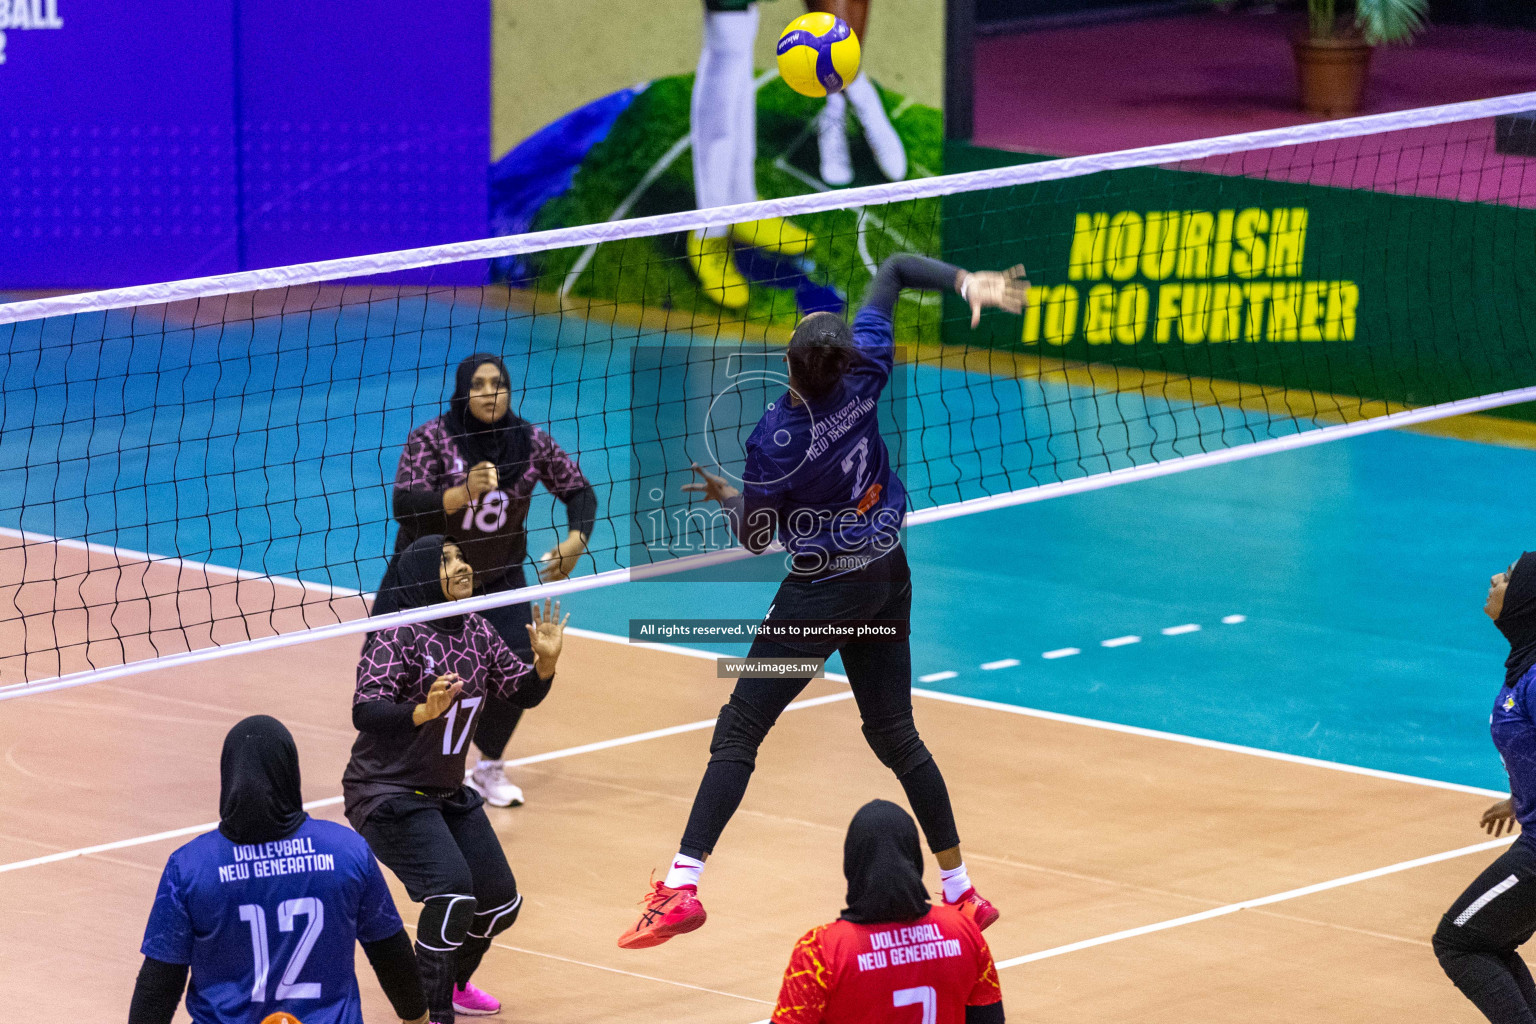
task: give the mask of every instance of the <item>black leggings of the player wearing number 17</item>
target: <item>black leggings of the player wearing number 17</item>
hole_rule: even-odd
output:
[[[468,788],[445,798],[404,794],[376,808],[361,832],[410,898],[425,904],[416,960],[432,1019],[452,1021],[453,986],[468,983],[492,940],[511,927],[522,906],[518,880],[485,817],[484,801]],[[429,917],[441,917],[441,901],[455,897],[459,900],[452,904],[452,926],[435,921],[429,929]],[[453,949],[424,946],[427,930],[447,936],[445,944]]]

